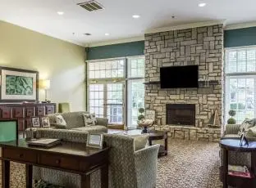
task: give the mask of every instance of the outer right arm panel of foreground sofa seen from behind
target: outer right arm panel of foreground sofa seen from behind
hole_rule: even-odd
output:
[[[159,147],[160,145],[152,145],[135,151],[137,187],[156,187]]]

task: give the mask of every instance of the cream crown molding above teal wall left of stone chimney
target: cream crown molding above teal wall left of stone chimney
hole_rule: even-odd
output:
[[[99,46],[106,46],[106,45],[117,44],[117,43],[130,43],[135,41],[144,41],[144,35],[135,37],[135,38],[123,38],[123,39],[103,41],[98,43],[88,43],[87,47],[99,47]]]

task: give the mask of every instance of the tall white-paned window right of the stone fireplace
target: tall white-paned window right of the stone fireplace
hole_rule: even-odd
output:
[[[225,122],[235,110],[236,123],[254,118],[256,111],[256,47],[226,50]]]

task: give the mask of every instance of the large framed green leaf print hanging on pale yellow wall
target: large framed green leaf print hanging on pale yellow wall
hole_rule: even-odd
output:
[[[38,101],[39,72],[0,67],[2,102]]]

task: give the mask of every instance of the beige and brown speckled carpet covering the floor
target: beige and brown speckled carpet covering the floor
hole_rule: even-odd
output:
[[[158,159],[157,188],[220,188],[217,143],[170,140],[168,155]],[[1,163],[0,163],[0,176]],[[0,187],[2,182],[0,180]],[[25,166],[11,163],[11,188],[25,187]]]

